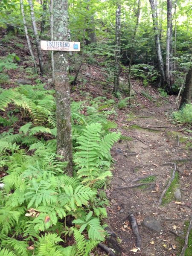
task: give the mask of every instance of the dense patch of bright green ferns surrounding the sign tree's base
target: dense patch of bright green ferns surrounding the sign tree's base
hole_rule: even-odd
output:
[[[20,118],[0,135],[0,256],[88,256],[105,240],[102,187],[120,134],[108,115],[72,102],[74,177],[57,160],[54,91],[43,86],[2,90],[0,109]],[[82,114],[82,109],[86,113]]]

